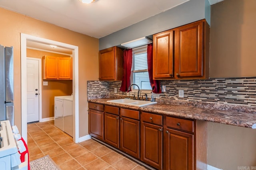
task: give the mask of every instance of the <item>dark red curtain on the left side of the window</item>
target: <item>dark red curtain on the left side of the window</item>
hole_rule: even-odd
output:
[[[122,92],[130,92],[128,89],[131,85],[130,76],[132,71],[132,49],[124,50],[124,75],[122,78],[122,85],[120,87],[120,91]]]

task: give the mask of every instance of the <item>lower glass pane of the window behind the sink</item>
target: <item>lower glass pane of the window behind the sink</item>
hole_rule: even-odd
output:
[[[140,89],[152,90],[149,82],[148,72],[134,72],[133,83],[137,84]],[[133,86],[134,89],[138,89],[137,86]]]

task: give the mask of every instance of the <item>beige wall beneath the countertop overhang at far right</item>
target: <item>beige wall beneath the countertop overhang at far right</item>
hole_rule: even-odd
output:
[[[208,164],[223,170],[256,167],[256,130],[208,123]]]

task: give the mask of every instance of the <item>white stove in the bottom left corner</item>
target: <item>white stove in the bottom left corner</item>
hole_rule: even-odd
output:
[[[16,131],[17,130],[18,129],[16,129]],[[24,151],[24,145],[22,145],[23,143],[20,143],[20,141],[16,141],[20,135],[16,134],[14,136],[10,121],[0,121],[0,134],[1,170],[27,170],[27,162],[21,162],[18,152],[18,149],[20,152]]]

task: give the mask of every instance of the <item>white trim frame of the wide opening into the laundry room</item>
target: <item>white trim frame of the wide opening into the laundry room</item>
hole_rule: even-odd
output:
[[[20,33],[20,52],[21,52],[21,133],[23,139],[27,142],[27,70],[26,70],[26,58],[27,58],[27,40],[36,41],[44,44],[56,45],[71,49],[73,51],[73,141],[79,142],[79,86],[78,86],[78,46],[70,45],[50,39],[36,37]]]

